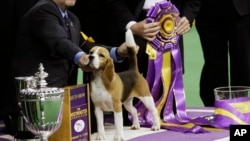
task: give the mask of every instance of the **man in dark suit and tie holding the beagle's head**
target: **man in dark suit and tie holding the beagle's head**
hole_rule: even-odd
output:
[[[42,63],[49,74],[46,78],[49,87],[76,84],[77,70],[84,65],[86,53],[101,44],[81,38],[80,22],[67,10],[75,1],[40,0],[22,17],[12,54],[13,81],[18,76],[33,76]],[[122,62],[121,57],[127,53],[124,43],[118,48],[101,46],[109,49],[117,62]]]

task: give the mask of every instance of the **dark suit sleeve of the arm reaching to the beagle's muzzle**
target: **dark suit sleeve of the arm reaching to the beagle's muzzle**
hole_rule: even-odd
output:
[[[30,21],[24,21],[23,28],[29,28],[29,32],[34,39],[42,40],[42,46],[50,53],[51,56],[63,56],[72,60],[74,55],[81,51],[79,48],[80,23],[72,17],[72,39],[68,39],[64,22],[58,8],[52,4],[44,4],[40,8],[33,8],[34,12],[26,15]]]

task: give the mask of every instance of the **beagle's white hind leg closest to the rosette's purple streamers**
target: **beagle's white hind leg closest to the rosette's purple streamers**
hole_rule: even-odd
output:
[[[152,130],[160,130],[160,117],[158,115],[157,108],[155,107],[154,99],[152,96],[139,97],[142,103],[146,106],[149,112],[153,116]]]

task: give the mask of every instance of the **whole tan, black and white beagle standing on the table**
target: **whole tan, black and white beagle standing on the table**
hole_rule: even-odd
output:
[[[131,33],[131,35],[128,36],[133,35]],[[133,38],[130,37],[130,39],[127,40],[133,40]],[[93,47],[89,53],[87,66],[92,72],[90,93],[91,100],[95,105],[95,116],[98,126],[96,140],[105,140],[104,111],[113,111],[114,113],[116,129],[114,140],[124,140],[122,104],[133,117],[131,129],[140,128],[137,109],[133,106],[134,97],[141,100],[153,115],[151,130],[160,129],[158,111],[155,107],[148,83],[138,71],[136,45],[133,44],[129,46],[129,42],[131,41],[127,40],[129,55],[129,70],[127,71],[116,73],[109,51],[103,47]]]

